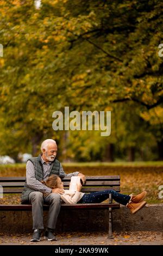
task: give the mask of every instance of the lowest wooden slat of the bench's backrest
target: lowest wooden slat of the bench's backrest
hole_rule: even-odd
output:
[[[64,189],[68,190],[68,187],[64,187]],[[120,187],[83,187],[82,188],[82,192],[95,192],[95,191],[102,191],[102,190],[115,190],[117,192],[120,192]],[[3,188],[3,193],[4,194],[18,194],[18,193],[22,193],[23,191],[23,187],[17,187],[17,188]]]

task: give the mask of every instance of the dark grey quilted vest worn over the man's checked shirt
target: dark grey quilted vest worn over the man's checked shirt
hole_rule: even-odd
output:
[[[41,162],[41,155],[39,155],[38,157],[32,157],[32,158],[28,159],[28,161],[31,161],[34,164],[36,179],[39,181],[43,180],[43,166],[42,166],[42,162]],[[52,174],[59,175],[59,169],[60,169],[60,162],[57,159],[55,159],[51,164],[51,172],[50,172],[49,176],[51,176]],[[36,190],[28,187],[27,180],[26,180],[25,184],[24,184],[22,196],[21,196],[22,204],[29,203],[29,194],[30,194],[30,192],[33,192],[33,191],[36,191]]]

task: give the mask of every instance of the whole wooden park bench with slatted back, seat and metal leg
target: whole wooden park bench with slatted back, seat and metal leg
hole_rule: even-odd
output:
[[[4,194],[21,194],[26,177],[0,177],[0,185],[3,187]],[[64,188],[68,189],[70,178],[62,179]],[[96,192],[106,189],[113,189],[120,192],[120,176],[87,176],[86,184],[82,188],[82,192]],[[113,203],[111,194],[109,194],[108,203],[92,203],[92,204],[62,204],[61,208],[64,209],[108,209],[109,218],[109,236],[112,238],[112,209],[119,209],[120,204]],[[43,205],[44,210],[48,210],[48,205]],[[30,204],[0,204],[1,211],[31,211],[32,205]]]

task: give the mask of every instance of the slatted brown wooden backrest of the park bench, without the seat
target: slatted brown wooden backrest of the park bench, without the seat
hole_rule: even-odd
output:
[[[21,193],[26,177],[0,177],[0,185],[3,193]],[[64,188],[68,189],[71,178],[64,178]],[[96,192],[106,189],[114,189],[120,192],[120,176],[86,176],[86,184],[82,187],[82,192]]]

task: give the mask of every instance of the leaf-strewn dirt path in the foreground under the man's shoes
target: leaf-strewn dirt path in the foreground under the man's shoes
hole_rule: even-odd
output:
[[[114,239],[109,240],[102,233],[64,233],[58,234],[58,241],[44,240],[30,242],[31,234],[0,234],[0,245],[163,245],[163,235],[156,231],[114,232]]]

